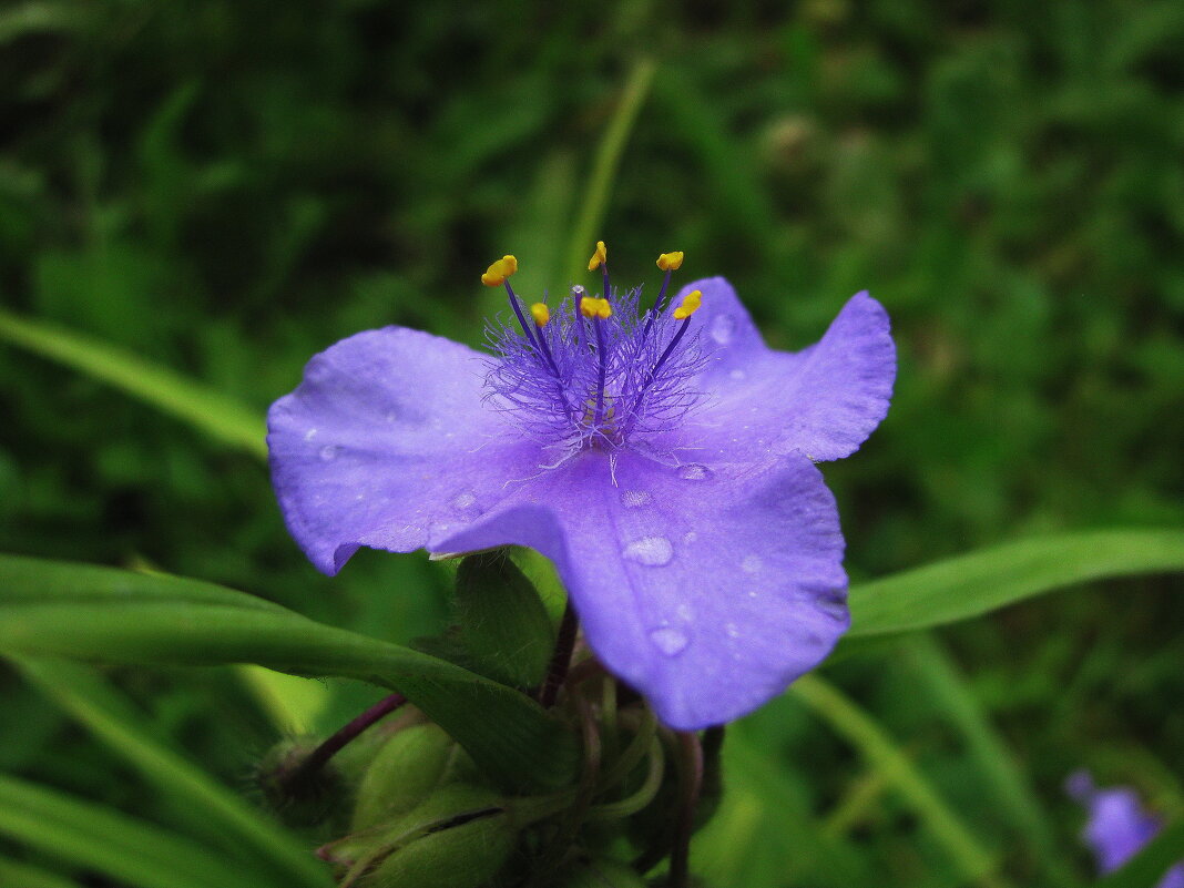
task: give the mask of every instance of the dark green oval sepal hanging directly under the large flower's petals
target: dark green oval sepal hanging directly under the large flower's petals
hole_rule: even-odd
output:
[[[461,561],[456,614],[475,671],[517,688],[542,683],[555,646],[554,628],[539,593],[506,553]]]

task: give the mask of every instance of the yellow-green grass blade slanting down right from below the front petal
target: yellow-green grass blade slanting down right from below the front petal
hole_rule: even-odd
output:
[[[993,855],[976,841],[970,829],[871,716],[816,675],[798,678],[790,687],[790,693],[813,709],[836,733],[858,749],[870,767],[884,776],[916,811],[967,880],[984,888],[1003,888],[1008,884],[996,873]]]

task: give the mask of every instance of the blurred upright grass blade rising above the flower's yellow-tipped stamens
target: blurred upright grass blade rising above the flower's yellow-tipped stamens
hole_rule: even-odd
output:
[[[596,160],[592,162],[592,176],[588,188],[580,204],[580,214],[572,229],[571,246],[567,250],[567,269],[573,279],[587,271],[587,257],[596,246],[596,236],[604,224],[604,214],[609,206],[609,195],[617,179],[617,167],[624,154],[629,134],[637,121],[645,97],[649,95],[657,65],[654,59],[639,59],[629,72],[625,88],[620,95],[617,110],[609,122],[609,128],[597,146]],[[607,295],[607,294],[605,294]]]

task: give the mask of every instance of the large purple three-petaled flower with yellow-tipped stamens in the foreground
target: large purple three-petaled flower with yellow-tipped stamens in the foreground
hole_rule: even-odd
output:
[[[588,645],[678,729],[755,709],[847,630],[835,500],[815,462],[855,451],[888,411],[888,316],[854,296],[815,346],[774,352],[723,278],[667,300],[574,287],[521,303],[494,356],[418,330],[360,333],[314,356],[272,405],[288,527],[334,574],[361,546],[529,546]],[[526,310],[523,310],[526,309]]]

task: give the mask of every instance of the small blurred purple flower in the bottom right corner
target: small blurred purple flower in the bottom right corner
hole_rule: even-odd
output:
[[[1086,771],[1077,771],[1066,781],[1066,789],[1088,812],[1081,837],[1094,852],[1102,875],[1131,860],[1163,828],[1128,786],[1100,790]],[[1158,888],[1184,888],[1184,863],[1169,870]]]

